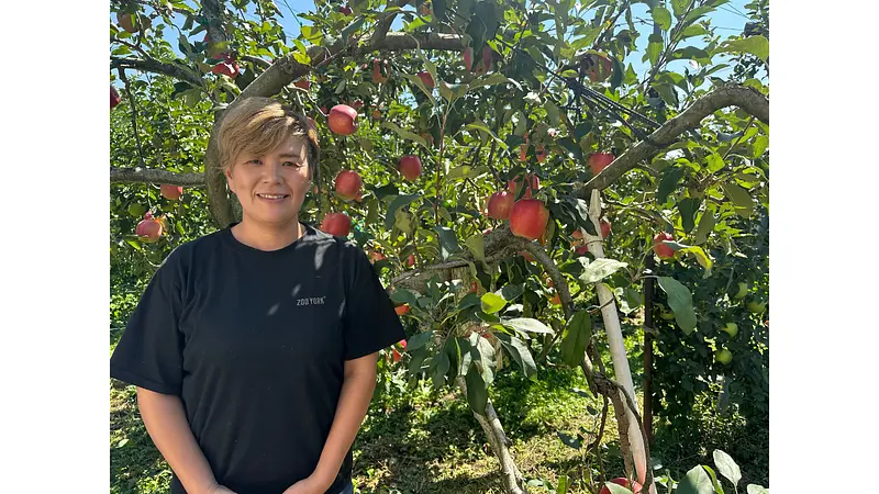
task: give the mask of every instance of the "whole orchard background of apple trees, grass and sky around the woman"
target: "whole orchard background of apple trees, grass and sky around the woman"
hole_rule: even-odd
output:
[[[297,10],[111,2],[111,352],[165,256],[240,216],[224,110],[276,97],[322,146],[302,220],[408,334],[359,492],[768,492],[768,2]],[[110,401],[111,492],[167,492]]]

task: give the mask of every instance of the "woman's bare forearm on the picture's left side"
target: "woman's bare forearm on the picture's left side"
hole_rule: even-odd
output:
[[[213,492],[216,479],[186,419],[179,396],[137,388],[146,431],[189,494]]]

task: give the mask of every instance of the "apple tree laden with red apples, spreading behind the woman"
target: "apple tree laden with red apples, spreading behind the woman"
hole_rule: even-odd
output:
[[[293,37],[271,1],[114,1],[114,266],[143,277],[240,217],[215,131],[247,97],[282,99],[322,146],[302,218],[370,254],[407,324],[380,379],[459,388],[520,493],[491,383],[580,368],[614,405],[627,476],[655,492],[620,318],[672,315],[645,324],[657,362],[713,338],[741,319],[710,301],[766,235],[768,41],[721,38],[708,16],[724,3],[319,1]],[[654,380],[679,372],[710,374]]]

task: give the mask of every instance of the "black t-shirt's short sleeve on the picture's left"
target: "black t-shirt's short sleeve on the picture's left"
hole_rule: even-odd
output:
[[[153,274],[110,358],[111,378],[163,394],[182,391],[182,304],[173,257]]]

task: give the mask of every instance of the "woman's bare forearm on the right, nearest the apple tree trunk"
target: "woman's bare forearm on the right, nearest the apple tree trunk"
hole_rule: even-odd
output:
[[[345,381],[342,384],[333,426],[330,428],[330,436],[326,438],[318,467],[311,475],[321,489],[326,490],[333,484],[369,411],[369,403],[376,389],[377,362],[378,352],[345,362]]]

